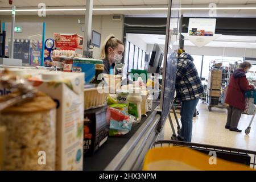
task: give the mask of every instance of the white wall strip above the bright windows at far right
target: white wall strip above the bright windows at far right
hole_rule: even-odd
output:
[[[226,56],[226,57],[256,57],[256,49],[247,48],[223,48],[184,46],[186,52],[191,55]]]

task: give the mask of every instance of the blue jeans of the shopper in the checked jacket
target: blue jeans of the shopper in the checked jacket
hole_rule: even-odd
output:
[[[180,137],[184,138],[184,142],[191,142],[192,129],[193,129],[193,114],[196,109],[196,105],[199,102],[199,98],[191,101],[182,101],[181,103],[181,133]]]

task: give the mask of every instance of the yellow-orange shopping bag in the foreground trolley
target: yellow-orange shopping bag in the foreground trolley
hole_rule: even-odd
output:
[[[144,171],[250,171],[249,166],[214,158],[187,147],[156,147],[148,151]]]

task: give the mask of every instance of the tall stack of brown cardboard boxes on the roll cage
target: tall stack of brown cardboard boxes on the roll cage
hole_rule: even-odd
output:
[[[218,101],[221,96],[221,69],[212,69],[209,73],[207,96],[210,101],[210,105],[218,105]]]

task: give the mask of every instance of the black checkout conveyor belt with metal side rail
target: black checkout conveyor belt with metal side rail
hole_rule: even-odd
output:
[[[109,137],[92,156],[84,158],[84,171],[138,170],[151,144],[159,137],[156,126],[160,115],[154,111],[159,102],[153,102],[151,112],[122,137]]]

